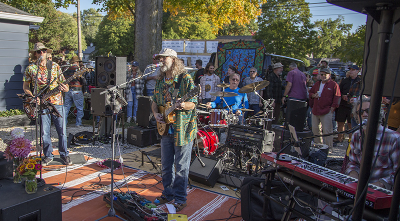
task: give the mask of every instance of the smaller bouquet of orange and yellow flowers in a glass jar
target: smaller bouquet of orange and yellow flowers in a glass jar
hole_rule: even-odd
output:
[[[26,177],[25,180],[25,191],[28,194],[34,194],[37,191],[37,180],[36,174],[37,171],[41,170],[40,158],[29,157],[28,159],[24,159],[18,167],[18,173],[23,177]]]

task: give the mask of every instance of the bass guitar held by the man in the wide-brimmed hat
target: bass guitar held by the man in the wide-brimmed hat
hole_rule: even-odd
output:
[[[87,68],[82,68],[79,69],[78,71],[76,71],[75,73],[73,73],[73,75],[71,77],[69,77],[68,79],[66,79],[64,82],[62,82],[62,84],[66,85],[67,83],[69,83],[71,80],[80,77],[83,75],[84,72],[88,71],[89,69]],[[42,100],[45,101],[47,100],[51,95],[58,93],[60,91],[59,89],[59,85],[55,88],[53,88],[52,90],[50,90],[49,92],[45,93],[42,95]],[[36,103],[32,102],[30,103],[30,101],[32,100],[33,97],[31,97],[30,95],[24,95],[21,97],[22,101],[23,101],[23,110],[25,111],[26,116],[28,116],[28,118],[30,120],[34,120],[36,119]]]

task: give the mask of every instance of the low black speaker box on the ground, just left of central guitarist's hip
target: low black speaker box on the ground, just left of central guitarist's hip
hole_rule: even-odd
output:
[[[147,147],[159,143],[161,136],[158,135],[157,128],[129,127],[126,141],[138,147]]]

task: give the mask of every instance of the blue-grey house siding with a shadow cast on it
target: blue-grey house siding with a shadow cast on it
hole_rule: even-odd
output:
[[[22,109],[23,72],[28,65],[29,22],[0,19],[0,111]]]

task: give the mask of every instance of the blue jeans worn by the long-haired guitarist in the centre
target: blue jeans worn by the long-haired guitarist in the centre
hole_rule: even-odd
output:
[[[173,134],[161,138],[162,194],[168,201],[186,203],[186,188],[189,176],[190,155],[193,141],[183,146],[175,146]],[[175,174],[176,167],[176,174]]]

